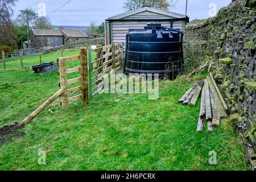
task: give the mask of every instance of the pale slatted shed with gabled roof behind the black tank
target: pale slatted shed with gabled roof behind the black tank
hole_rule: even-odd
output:
[[[164,27],[185,31],[187,22],[189,18],[186,15],[144,6],[106,19],[105,43],[125,43],[129,29],[144,29],[149,23],[161,23]]]

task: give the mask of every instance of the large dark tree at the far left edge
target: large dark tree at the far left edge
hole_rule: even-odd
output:
[[[0,0],[0,44],[16,47],[17,40],[11,20],[17,0]]]

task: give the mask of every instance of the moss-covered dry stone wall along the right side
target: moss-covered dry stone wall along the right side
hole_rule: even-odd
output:
[[[187,25],[187,41],[208,41],[212,72],[228,103],[232,122],[256,169],[256,1],[238,0],[216,16]]]

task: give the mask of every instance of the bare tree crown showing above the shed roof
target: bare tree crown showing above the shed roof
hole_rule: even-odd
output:
[[[174,7],[176,3],[177,0],[126,0],[123,8],[130,11],[143,6],[150,6],[158,9],[168,10],[169,7]]]

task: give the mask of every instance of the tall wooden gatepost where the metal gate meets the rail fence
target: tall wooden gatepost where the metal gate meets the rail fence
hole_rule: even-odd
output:
[[[88,68],[87,68],[87,48],[80,48],[80,73],[82,104],[88,104]]]

